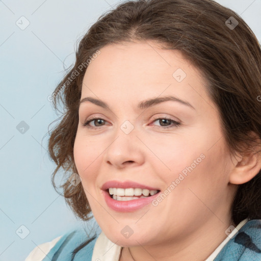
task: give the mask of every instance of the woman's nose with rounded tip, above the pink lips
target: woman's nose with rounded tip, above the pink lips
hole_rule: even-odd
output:
[[[145,158],[145,146],[137,136],[139,137],[139,134],[135,128],[128,133],[125,132],[124,127],[119,127],[104,154],[105,162],[119,169],[128,165],[142,165]]]

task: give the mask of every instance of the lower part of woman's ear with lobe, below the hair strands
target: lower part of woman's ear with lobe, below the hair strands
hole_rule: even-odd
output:
[[[260,155],[260,152],[256,152],[245,155],[241,158],[230,172],[229,182],[231,184],[240,185],[248,182],[256,176],[261,169]]]

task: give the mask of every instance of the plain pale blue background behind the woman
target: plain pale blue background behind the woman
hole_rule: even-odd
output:
[[[0,261],[24,260],[39,244],[83,225],[51,185],[48,125],[58,116],[47,97],[73,62],[76,40],[120,1],[0,1]],[[261,40],[261,0],[219,0],[240,14]],[[30,25],[21,30],[16,21]],[[21,134],[21,121],[29,129]],[[16,230],[30,230],[20,239]],[[23,231],[25,231],[23,229]]]

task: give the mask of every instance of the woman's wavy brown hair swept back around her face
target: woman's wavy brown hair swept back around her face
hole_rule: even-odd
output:
[[[239,22],[234,29],[225,23],[231,16]],[[48,144],[50,157],[57,164],[52,174],[55,189],[54,178],[60,168],[70,175],[77,172],[73,144],[83,77],[93,54],[107,44],[146,40],[180,50],[201,70],[208,82],[207,93],[220,113],[230,153],[253,151],[256,140],[250,132],[261,136],[261,102],[257,98],[261,95],[261,49],[245,21],[212,0],[128,1],[100,16],[91,26],[77,47],[73,67],[53,93],[55,109],[59,101],[65,107]],[[235,224],[247,217],[261,219],[261,171],[256,174],[239,185],[234,196],[231,219]],[[90,219],[82,183],[73,186],[67,180],[61,187],[76,216]]]

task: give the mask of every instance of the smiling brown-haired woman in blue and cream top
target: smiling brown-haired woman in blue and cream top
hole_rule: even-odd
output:
[[[66,202],[102,232],[27,260],[261,260],[260,68],[248,25],[211,0],[100,17],[54,92],[49,153]]]

